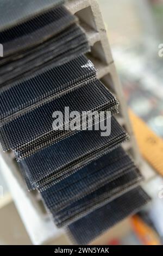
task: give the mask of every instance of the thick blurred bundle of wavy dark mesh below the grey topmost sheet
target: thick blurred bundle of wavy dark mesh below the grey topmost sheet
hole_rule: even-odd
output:
[[[86,35],[77,25],[77,19],[63,5],[52,8],[55,1],[49,9],[48,5],[44,8],[42,2],[46,1],[40,1],[36,15],[34,12],[23,19],[16,12],[20,22],[16,23],[17,19],[13,17],[13,20],[9,19],[8,27],[3,26],[6,19],[1,16],[0,38],[4,49],[4,57],[0,60],[1,89],[89,51]],[[26,8],[24,1],[21,3],[23,7]]]

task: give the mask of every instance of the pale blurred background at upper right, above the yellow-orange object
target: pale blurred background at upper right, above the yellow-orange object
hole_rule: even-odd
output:
[[[98,2],[128,105],[163,137],[163,1]]]

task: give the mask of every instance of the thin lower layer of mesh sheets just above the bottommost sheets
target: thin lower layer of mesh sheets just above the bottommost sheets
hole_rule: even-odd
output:
[[[76,199],[62,210],[53,210],[53,218],[58,227],[70,224],[78,220],[80,217],[110,202],[121,194],[131,190],[141,181],[141,174],[138,170],[119,176],[108,184],[98,188],[87,196]]]

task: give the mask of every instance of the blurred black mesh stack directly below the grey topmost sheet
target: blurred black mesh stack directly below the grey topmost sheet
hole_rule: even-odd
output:
[[[0,32],[4,58],[42,44],[72,25],[75,20],[75,17],[64,6],[60,6]]]

